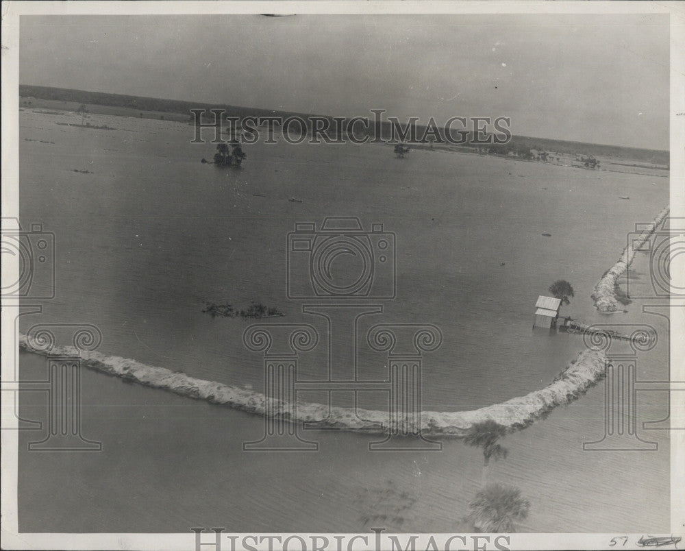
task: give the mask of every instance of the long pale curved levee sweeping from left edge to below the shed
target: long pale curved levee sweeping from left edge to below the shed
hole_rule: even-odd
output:
[[[27,337],[20,335],[19,347],[27,352],[47,355],[40,352],[40,347],[27,344]],[[57,346],[50,350],[50,354],[66,354],[73,352],[72,347]],[[105,356],[100,352],[80,352],[81,364],[89,369],[137,382],[147,387],[164,389],[173,393],[206,400],[212,404],[221,404],[249,413],[264,415],[266,400],[263,394],[240,387],[221,384],[190,377],[182,372],[171,371],[164,367],[155,367],[121,358],[119,356]],[[596,350],[583,350],[575,360],[562,371],[547,387],[531,392],[525,396],[515,397],[501,404],[486,406],[474,411],[438,412],[424,411],[421,413],[421,424],[424,434],[435,436],[462,437],[479,421],[492,419],[506,426],[514,432],[530,426],[538,419],[544,419],[556,407],[570,404],[581,397],[590,387],[595,386],[605,375],[605,356]],[[269,410],[275,412],[274,417],[290,410],[285,402],[270,404]],[[361,430],[366,421],[380,421],[388,428],[388,412],[358,409],[355,413],[348,408],[332,408],[328,416],[327,406],[297,402],[296,415],[289,421],[321,421],[327,419],[330,426],[345,430]],[[364,432],[370,432],[364,430]],[[379,430],[377,432],[384,432]]]

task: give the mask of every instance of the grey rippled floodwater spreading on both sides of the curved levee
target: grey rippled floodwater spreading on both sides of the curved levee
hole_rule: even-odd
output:
[[[562,315],[656,328],[664,338],[640,355],[638,378],[667,378],[667,321],[638,301],[603,317],[589,296],[634,223],[667,204],[667,178],[447,151],[399,160],[382,145],[256,144],[237,171],[201,164],[214,146],[191,144],[182,123],[93,115],[92,124],[117,129],[93,130],[57,124],[79,122],[73,115],[31,111],[20,121],[22,223],[54,232],[57,258],[55,299],[23,319],[24,331],[90,323],[103,354],[261,389],[262,358],[242,343],[247,324],[212,319],[204,302],[260,301],[325,336],[323,318],[286,297],[286,237],[296,222],[320,228],[325,217],[355,216],[364,229],[394,232],[397,254],[397,297],[374,302],[383,312],[363,317],[360,334],[376,323],[432,323],[443,333],[423,356],[423,410],[471,410],[551,382],[584,349],[577,335],[532,332],[536,298],[560,278],[575,289]],[[647,260],[638,254],[633,268],[645,286]],[[342,350],[351,337],[331,339]],[[325,376],[326,340],[301,356],[303,377]],[[386,359],[362,346],[358,361],[362,379],[387,374]],[[45,358],[22,354],[21,370],[45,374]],[[479,488],[482,453],[460,441],[379,453],[368,449],[377,437],[316,431],[319,452],[243,452],[262,435],[260,417],[92,371],[82,382],[83,433],[103,451],[27,452],[40,438],[22,432],[21,531],[451,532]],[[44,414],[33,394],[22,397],[27,418]],[[379,393],[358,397],[387,407]],[[665,393],[638,400],[638,421],[667,417]],[[583,451],[603,434],[600,384],[508,435],[510,454],[488,480],[531,500],[525,530],[667,532],[668,434],[643,432],[658,451]]]

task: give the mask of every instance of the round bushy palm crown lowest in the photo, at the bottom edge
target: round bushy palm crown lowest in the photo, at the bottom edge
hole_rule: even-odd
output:
[[[516,532],[516,523],[525,520],[530,501],[521,497],[521,490],[494,482],[480,490],[469,503],[469,519],[482,532]]]

